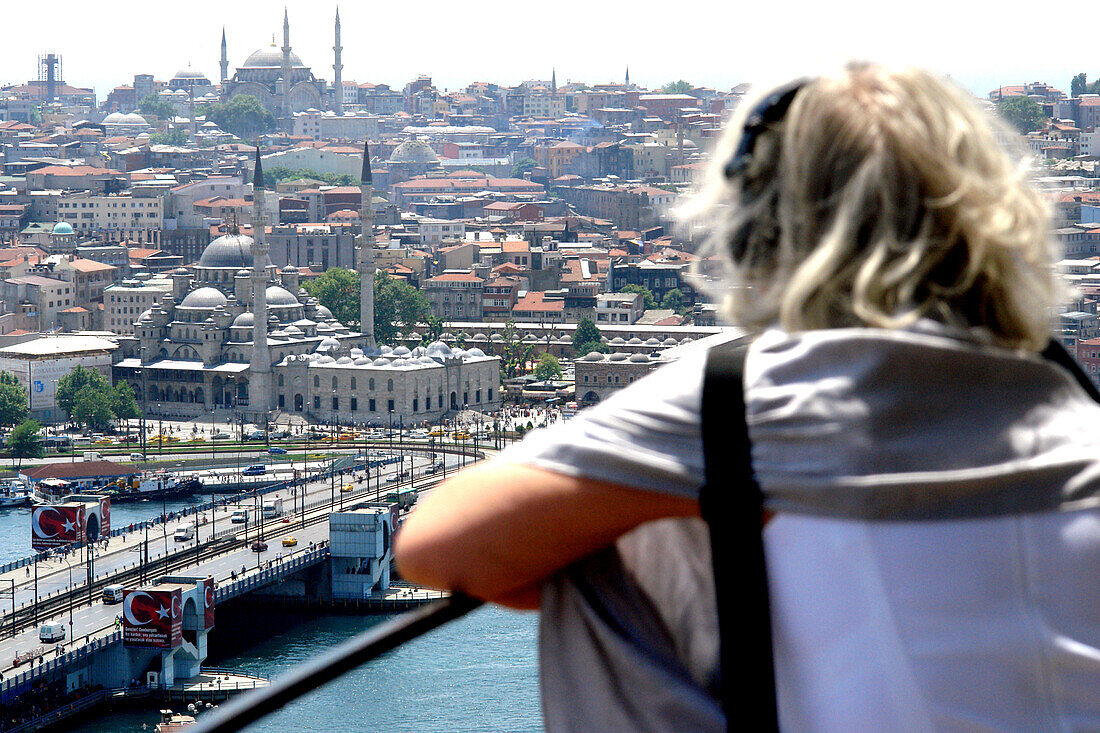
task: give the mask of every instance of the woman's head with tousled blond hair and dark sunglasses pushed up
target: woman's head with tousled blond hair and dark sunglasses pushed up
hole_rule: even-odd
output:
[[[738,322],[931,317],[1007,347],[1046,343],[1046,207],[1007,153],[1011,133],[920,69],[851,65],[777,98],[762,116],[767,102],[745,106],[698,199],[733,261]]]

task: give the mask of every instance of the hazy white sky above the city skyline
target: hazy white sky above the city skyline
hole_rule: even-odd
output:
[[[332,78],[330,0],[289,0],[290,43],[314,73]],[[917,64],[978,94],[1046,80],[1068,91],[1080,70],[1100,73],[1089,43],[1066,43],[1034,3],[924,0],[892,9],[839,2],[343,2],[344,78],[400,88],[429,74],[440,88],[473,80],[516,84],[684,78],[715,88],[790,76],[853,57]],[[190,64],[218,80],[221,28],[230,75],[256,48],[282,45],[283,4],[258,0],[4,2],[0,81],[35,75],[38,54],[64,57],[67,81],[102,99],[135,73],[167,80]],[[696,8],[707,8],[704,12]],[[1084,36],[1082,36],[1084,37]],[[1094,66],[1094,68],[1093,68]]]

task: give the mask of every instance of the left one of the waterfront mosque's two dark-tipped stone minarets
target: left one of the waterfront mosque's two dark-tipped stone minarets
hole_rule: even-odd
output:
[[[252,360],[249,363],[250,412],[266,413],[272,403],[272,355],[267,349],[267,221],[264,216],[264,168],[256,145],[252,174]],[[266,419],[266,415],[264,416]]]

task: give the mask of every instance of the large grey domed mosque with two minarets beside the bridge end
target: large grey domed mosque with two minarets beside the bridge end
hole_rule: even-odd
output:
[[[374,340],[373,196],[364,143],[356,249],[359,331],[299,287],[294,266],[272,264],[262,195],[254,238],[233,230],[198,262],[173,271],[172,293],[120,337],[114,382],[128,382],[146,416],[255,423],[299,415],[340,424],[432,423],[449,411],[501,404],[501,360],[481,349],[391,348]],[[264,190],[256,151],[255,192]]]

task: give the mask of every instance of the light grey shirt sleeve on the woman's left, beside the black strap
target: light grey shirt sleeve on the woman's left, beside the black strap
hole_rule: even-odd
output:
[[[531,433],[497,460],[697,497],[706,354],[685,353],[573,419]]]

